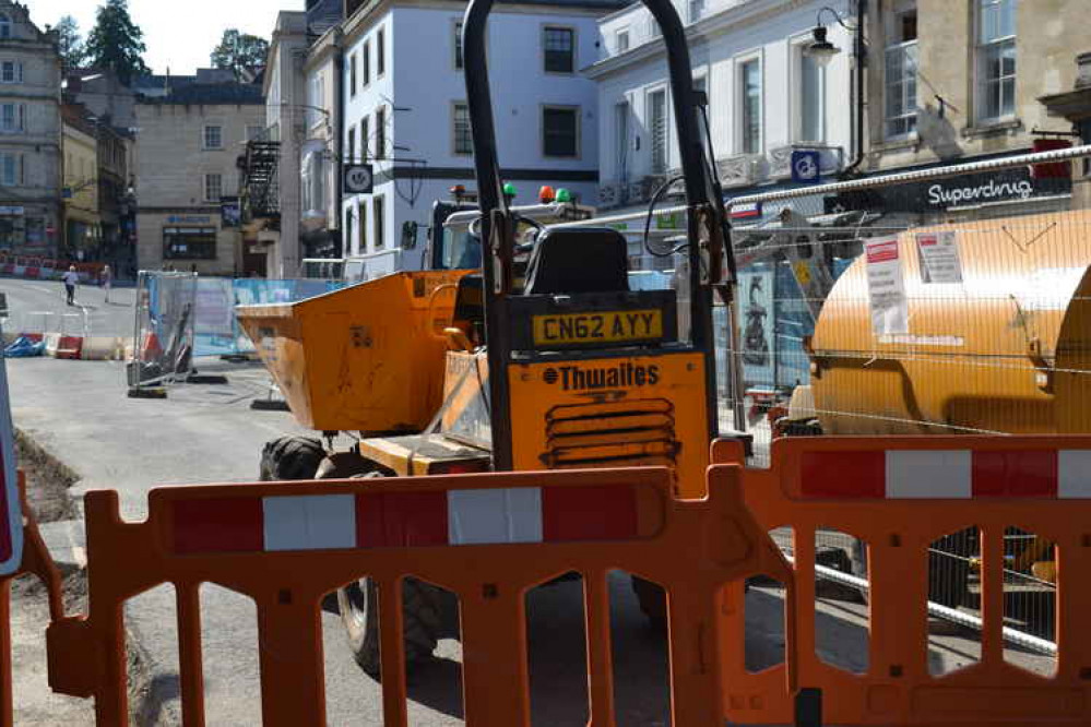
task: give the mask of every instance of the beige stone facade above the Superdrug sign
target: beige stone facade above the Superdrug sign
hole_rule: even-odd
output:
[[[1086,0],[868,5],[865,169],[1029,152],[1035,130],[1070,130],[1040,97],[1074,87]]]

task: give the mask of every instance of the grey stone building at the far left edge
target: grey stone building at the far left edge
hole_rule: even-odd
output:
[[[60,58],[25,5],[0,0],[0,251],[61,241]]]

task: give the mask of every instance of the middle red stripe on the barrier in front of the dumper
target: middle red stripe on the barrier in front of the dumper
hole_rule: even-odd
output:
[[[361,548],[447,545],[447,492],[356,496],[356,545]]]

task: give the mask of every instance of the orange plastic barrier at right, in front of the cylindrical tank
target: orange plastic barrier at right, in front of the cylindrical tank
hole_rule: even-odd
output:
[[[714,463],[740,462],[734,443]],[[713,478],[737,466],[718,464]],[[798,438],[773,442],[772,467],[743,475],[744,497],[767,529],[794,528],[797,642],[787,655],[801,684],[822,690],[826,724],[1039,727],[1091,725],[1091,437]],[[982,543],[981,660],[929,675],[928,547],[976,526]],[[1056,674],[1004,659],[1004,535],[1018,526],[1056,546]],[[816,655],[815,533],[868,544],[870,653],[863,675]],[[742,588],[725,595],[725,646],[740,643]],[[750,674],[724,647],[732,724],[791,723],[784,669]],[[794,659],[794,660],[793,660]],[[755,708],[759,707],[759,708]]]

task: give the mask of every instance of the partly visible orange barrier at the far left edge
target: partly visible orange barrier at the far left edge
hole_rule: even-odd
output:
[[[49,593],[49,618],[58,621],[64,616],[61,600],[60,572],[49,557],[49,550],[41,540],[34,513],[26,502],[26,484],[23,473],[19,473],[19,493],[23,511],[23,558],[19,570],[8,576],[0,576],[0,727],[12,727],[14,706],[11,686],[11,582],[15,577],[31,573],[46,585]]]

